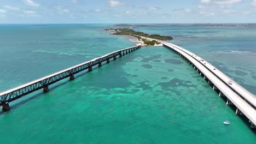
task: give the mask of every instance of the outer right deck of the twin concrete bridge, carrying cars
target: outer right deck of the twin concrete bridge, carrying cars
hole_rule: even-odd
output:
[[[230,79],[230,77],[228,77],[227,75],[225,75],[224,73],[222,73],[222,71],[220,71],[219,69],[217,69],[216,67],[214,67],[212,64],[208,63],[207,61],[205,61],[205,59],[203,59],[203,61],[201,61],[201,57],[195,55],[195,53],[192,53],[186,49],[183,49],[180,46],[174,45],[174,44],[170,44],[169,45],[176,47],[177,49],[187,53],[189,56],[193,57],[194,59],[196,59],[196,61],[200,62],[202,65],[204,65],[208,70],[210,70],[214,75],[216,75],[220,80],[222,80],[226,85],[228,85],[229,87],[231,87],[231,89],[233,89],[236,93],[238,93],[239,95],[241,95],[241,97],[243,97],[245,100],[247,100],[250,104],[253,105],[254,109],[256,107],[256,97],[249,91],[247,91],[245,88],[243,88],[242,86],[240,86],[238,83],[236,83],[235,81],[232,81],[232,79]],[[215,69],[215,70],[214,70]],[[232,81],[232,85],[230,85],[228,82]]]

